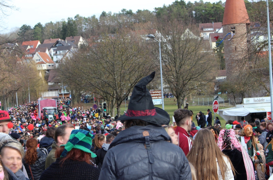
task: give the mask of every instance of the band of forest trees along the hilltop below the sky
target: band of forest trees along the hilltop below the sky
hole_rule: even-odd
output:
[[[266,22],[266,2],[265,1],[245,1],[250,21]],[[272,11],[272,1],[269,7]],[[155,7],[154,11],[138,10],[133,12],[131,9],[122,9],[118,13],[103,11],[100,17],[88,16],[83,17],[77,14],[74,17],[68,17],[66,20],[57,22],[48,22],[42,25],[37,22],[34,27],[22,25],[17,30],[16,35],[19,41],[40,40],[61,38],[69,36],[82,36],[83,38],[91,38],[101,34],[101,29],[109,29],[110,33],[115,33],[117,29],[123,27],[132,29],[132,31],[147,29],[145,25],[149,24],[149,28],[153,27],[156,21],[179,19],[185,25],[199,23],[222,22],[224,15],[225,3],[195,1],[194,3],[186,3],[184,0],[174,1],[171,5],[163,7]],[[271,13],[272,14],[272,13]],[[272,18],[271,18],[272,19]]]

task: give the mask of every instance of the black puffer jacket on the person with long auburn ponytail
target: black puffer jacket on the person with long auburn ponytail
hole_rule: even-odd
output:
[[[46,158],[47,156],[43,152],[39,151],[38,160],[36,160],[34,164],[30,164],[30,168],[31,168],[34,180],[39,180],[42,172],[45,170]],[[29,180],[31,180],[32,176],[29,170],[29,164],[27,164],[24,160],[23,160],[23,164],[28,173]]]

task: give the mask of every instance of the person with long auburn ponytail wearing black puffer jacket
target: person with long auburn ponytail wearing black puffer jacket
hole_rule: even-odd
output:
[[[39,180],[45,170],[46,154],[37,151],[38,141],[35,138],[29,138],[26,143],[27,151],[23,160],[23,164],[28,173],[30,180]],[[33,178],[32,178],[33,177]]]

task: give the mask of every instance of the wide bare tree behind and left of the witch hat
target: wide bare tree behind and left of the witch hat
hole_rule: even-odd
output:
[[[154,63],[143,39],[127,29],[120,29],[115,34],[102,32],[90,45],[60,66],[69,64],[73,67],[73,72],[78,73],[71,76],[80,79],[77,79],[80,86],[101,95],[111,102],[112,108],[116,103],[120,116],[121,103],[135,84],[151,72]]]

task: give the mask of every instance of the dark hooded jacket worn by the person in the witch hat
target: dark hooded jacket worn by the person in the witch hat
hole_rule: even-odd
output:
[[[157,125],[121,131],[105,155],[99,180],[191,180],[184,152],[170,140]]]

